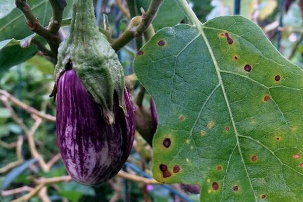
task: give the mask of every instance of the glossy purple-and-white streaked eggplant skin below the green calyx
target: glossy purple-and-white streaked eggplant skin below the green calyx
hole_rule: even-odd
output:
[[[126,88],[127,115],[118,100],[118,94],[114,93],[115,123],[109,125],[72,68],[59,78],[57,138],[65,168],[78,183],[97,185],[106,182],[119,172],[130,154],[135,115]]]

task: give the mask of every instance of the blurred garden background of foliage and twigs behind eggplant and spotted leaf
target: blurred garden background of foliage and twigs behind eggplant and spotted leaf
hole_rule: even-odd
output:
[[[27,2],[40,23],[46,26],[52,13],[48,1]],[[147,10],[149,2],[94,1],[97,23],[103,28],[103,14],[106,14],[111,37],[115,39],[126,29],[132,16],[141,15],[140,8]],[[240,2],[240,7],[238,3],[226,0],[188,2],[201,22],[217,16],[233,15],[239,9],[240,15],[263,29],[285,58],[303,68],[302,0],[236,1]],[[129,178],[141,176],[147,181],[141,178],[136,181],[121,175],[97,187],[70,181],[57,146],[54,122],[56,106],[49,97],[54,86],[54,64],[35,48],[35,45],[45,45],[46,42],[36,36],[32,40],[32,32],[13,0],[1,0],[0,3],[0,201],[17,198],[16,201],[22,201],[22,196],[29,201],[198,201],[197,186],[163,186],[149,179],[152,148],[139,132],[136,132],[133,150],[124,171]],[[64,18],[67,18],[64,25],[67,26],[60,30],[62,39],[69,34],[71,4],[72,1],[68,1],[64,12]],[[178,23],[187,23],[187,20],[174,0],[165,0],[153,22],[155,30]],[[20,40],[20,44],[26,48],[12,41],[10,46],[6,46],[11,38]],[[133,74],[132,62],[142,44],[144,40],[138,38],[118,53],[134,99],[140,89]],[[147,111],[149,99],[148,95],[144,96],[143,106]],[[41,183],[46,178],[54,181]]]

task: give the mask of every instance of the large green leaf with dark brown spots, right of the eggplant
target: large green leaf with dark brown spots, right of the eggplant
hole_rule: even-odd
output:
[[[134,62],[159,115],[154,178],[201,201],[302,201],[303,71],[244,17],[191,21]]]

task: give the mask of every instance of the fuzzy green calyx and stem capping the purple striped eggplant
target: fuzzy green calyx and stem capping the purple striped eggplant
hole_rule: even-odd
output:
[[[114,123],[113,99],[126,113],[123,90],[124,73],[118,57],[104,34],[98,31],[92,0],[74,0],[70,36],[61,43],[55,69],[60,74],[72,63],[73,69],[87,91],[103,111],[105,120]]]

